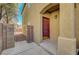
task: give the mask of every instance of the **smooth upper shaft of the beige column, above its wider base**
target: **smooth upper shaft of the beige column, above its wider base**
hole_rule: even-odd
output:
[[[71,7],[70,7],[71,6]],[[70,10],[70,11],[69,11]],[[60,36],[74,37],[74,7],[73,4],[60,4]]]

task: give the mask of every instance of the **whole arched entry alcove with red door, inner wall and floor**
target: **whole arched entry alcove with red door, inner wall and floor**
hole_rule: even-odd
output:
[[[42,42],[40,45],[51,54],[56,54],[59,36],[59,4],[50,3],[40,13],[42,17]],[[44,20],[47,21],[44,22]]]

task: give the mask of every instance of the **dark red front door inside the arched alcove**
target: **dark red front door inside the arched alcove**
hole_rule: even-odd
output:
[[[43,39],[48,39],[50,38],[50,22],[49,18],[43,17],[42,21],[42,34],[43,34]]]

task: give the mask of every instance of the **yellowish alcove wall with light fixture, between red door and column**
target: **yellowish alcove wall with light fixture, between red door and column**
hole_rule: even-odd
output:
[[[57,18],[56,18],[57,17]],[[59,11],[50,15],[50,39],[57,43],[59,36]]]

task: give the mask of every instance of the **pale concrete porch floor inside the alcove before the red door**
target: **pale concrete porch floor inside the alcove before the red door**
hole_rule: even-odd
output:
[[[41,42],[40,46],[47,50],[50,54],[56,55],[57,53],[57,44],[50,39]]]

